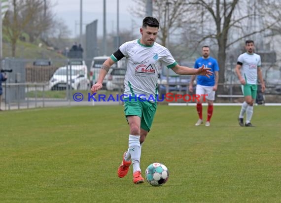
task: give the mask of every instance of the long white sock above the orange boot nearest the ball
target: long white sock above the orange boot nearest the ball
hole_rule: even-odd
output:
[[[129,135],[129,153],[131,154],[133,173],[140,171],[140,135]]]

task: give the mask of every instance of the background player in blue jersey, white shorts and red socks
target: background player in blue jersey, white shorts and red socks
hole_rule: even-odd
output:
[[[215,91],[217,90],[217,83],[218,83],[218,64],[217,61],[210,57],[210,47],[209,46],[203,46],[202,47],[202,57],[196,60],[194,68],[200,68],[202,65],[205,67],[211,68],[211,71],[214,72],[213,75],[208,77],[202,77],[201,75],[198,75],[197,77],[197,85],[196,85],[196,95],[208,95],[206,96],[206,100],[208,102],[208,116],[207,121],[205,123],[206,126],[210,126],[210,120],[213,112],[213,101],[214,101],[214,95]],[[196,75],[192,75],[191,81],[189,83],[189,91],[193,92],[193,81],[195,79]],[[203,123],[202,118],[202,102],[204,100],[204,97],[201,96],[200,100],[197,101],[196,108],[197,113],[199,115],[199,119],[195,126],[200,126]]]

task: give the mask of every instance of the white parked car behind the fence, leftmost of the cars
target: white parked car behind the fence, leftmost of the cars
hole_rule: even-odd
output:
[[[88,90],[90,80],[87,77],[87,68],[81,66],[58,68],[49,81],[49,89],[65,90],[67,87],[73,90]]]

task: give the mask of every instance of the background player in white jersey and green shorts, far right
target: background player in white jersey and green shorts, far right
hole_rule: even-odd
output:
[[[238,57],[236,73],[242,84],[242,91],[245,102],[242,104],[238,122],[244,126],[244,114],[246,112],[246,127],[252,127],[251,118],[253,115],[253,104],[257,95],[257,79],[261,83],[261,91],[265,91],[265,84],[261,72],[261,59],[254,53],[253,40],[246,40],[246,52]]]

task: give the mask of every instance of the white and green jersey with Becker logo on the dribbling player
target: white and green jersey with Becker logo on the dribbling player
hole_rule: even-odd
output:
[[[127,71],[125,75],[125,95],[137,95],[150,102],[158,95],[157,80],[161,63],[168,68],[177,65],[170,51],[154,42],[151,46],[140,43],[140,39],[125,42],[119,48],[127,58]],[[117,62],[117,56],[111,55]],[[155,100],[157,101],[157,100]]]

